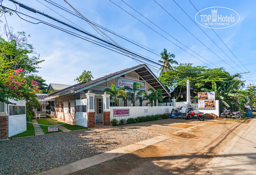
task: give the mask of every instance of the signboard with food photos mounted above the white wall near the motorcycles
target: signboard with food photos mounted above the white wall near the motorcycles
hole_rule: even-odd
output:
[[[198,108],[215,108],[215,92],[199,92]]]

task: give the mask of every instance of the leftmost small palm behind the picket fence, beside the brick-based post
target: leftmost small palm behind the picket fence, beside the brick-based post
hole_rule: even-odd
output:
[[[108,92],[110,94],[110,98],[115,100],[117,106],[117,100],[122,98],[126,100],[127,94],[125,92],[124,87],[116,88],[114,84],[111,85],[111,88],[105,88],[104,92]]]

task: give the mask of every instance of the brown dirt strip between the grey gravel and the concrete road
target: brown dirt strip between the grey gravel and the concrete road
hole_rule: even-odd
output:
[[[248,122],[165,119],[123,125],[170,138],[73,174],[195,174]]]

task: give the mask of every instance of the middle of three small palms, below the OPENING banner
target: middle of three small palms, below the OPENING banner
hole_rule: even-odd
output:
[[[128,90],[127,92],[127,100],[131,101],[133,106],[135,106],[136,101],[141,97],[142,95],[146,95],[145,90],[140,90],[141,84],[138,82],[133,82],[132,88],[125,86],[125,89]],[[136,93],[136,91],[138,91]]]

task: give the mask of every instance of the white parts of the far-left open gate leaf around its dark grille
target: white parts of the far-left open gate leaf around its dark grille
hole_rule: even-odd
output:
[[[9,99],[9,102],[17,103],[16,106],[25,106],[26,101],[14,101]],[[9,110],[9,109],[8,109]],[[24,115],[9,115],[8,117],[8,137],[27,131],[26,114]]]

